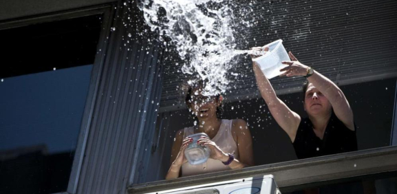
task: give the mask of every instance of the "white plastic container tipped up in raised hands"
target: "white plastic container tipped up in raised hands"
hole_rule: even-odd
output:
[[[279,39],[267,45],[269,50],[263,56],[254,58],[253,61],[257,62],[259,68],[264,72],[266,78],[271,79],[275,76],[283,74],[280,69],[287,67],[281,61],[290,61],[290,57],[283,46],[283,40]]]

